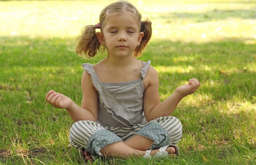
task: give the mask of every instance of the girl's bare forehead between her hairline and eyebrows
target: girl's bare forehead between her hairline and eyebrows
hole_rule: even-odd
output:
[[[130,25],[139,26],[139,20],[135,13],[132,12],[113,12],[106,16],[104,26]]]

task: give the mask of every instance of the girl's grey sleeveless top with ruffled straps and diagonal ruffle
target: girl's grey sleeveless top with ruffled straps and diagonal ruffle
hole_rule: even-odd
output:
[[[146,122],[143,113],[143,79],[150,61],[142,62],[141,78],[123,83],[102,83],[93,65],[83,63],[83,69],[91,75],[93,85],[98,90],[98,123],[102,126],[134,126]]]

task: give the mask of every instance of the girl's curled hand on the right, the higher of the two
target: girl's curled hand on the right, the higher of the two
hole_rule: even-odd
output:
[[[176,88],[175,92],[179,93],[181,97],[185,97],[189,94],[195,93],[195,91],[200,86],[198,79],[190,79],[188,84],[185,84],[183,86],[179,86]]]

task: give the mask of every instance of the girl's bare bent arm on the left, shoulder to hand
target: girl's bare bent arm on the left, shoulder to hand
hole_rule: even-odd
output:
[[[46,101],[55,108],[66,109],[74,122],[79,120],[97,121],[98,94],[91,81],[90,75],[84,72],[81,79],[82,102],[78,106],[73,100],[64,94],[50,90],[46,94]]]

